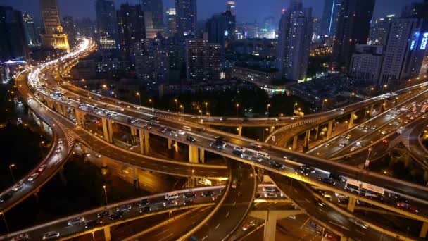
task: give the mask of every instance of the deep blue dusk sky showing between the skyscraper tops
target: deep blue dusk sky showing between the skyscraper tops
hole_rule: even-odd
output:
[[[262,21],[268,16],[279,18],[281,9],[289,6],[290,0],[236,0],[237,20]],[[364,0],[361,0],[364,1]],[[401,13],[405,4],[420,0],[377,0],[374,8],[374,18],[380,18],[389,13]],[[122,3],[137,4],[138,0],[115,0],[116,8]],[[165,8],[174,7],[174,0],[163,0]],[[94,19],[95,0],[58,0],[61,16],[71,15],[75,18],[89,17]],[[213,13],[225,10],[226,0],[199,0],[198,18],[209,18]],[[39,0],[0,0],[1,5],[9,5],[20,11],[30,13],[36,20],[41,19]],[[303,0],[304,6],[312,6],[316,17],[322,16],[324,0]]]

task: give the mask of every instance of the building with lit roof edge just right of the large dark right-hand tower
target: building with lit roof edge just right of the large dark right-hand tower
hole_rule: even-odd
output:
[[[388,15],[385,18],[379,18],[372,23],[368,44],[386,45],[386,40],[388,39],[389,30],[394,17],[394,14]]]

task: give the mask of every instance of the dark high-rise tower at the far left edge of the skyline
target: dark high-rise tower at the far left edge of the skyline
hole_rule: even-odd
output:
[[[0,60],[28,59],[23,14],[11,6],[0,6]]]

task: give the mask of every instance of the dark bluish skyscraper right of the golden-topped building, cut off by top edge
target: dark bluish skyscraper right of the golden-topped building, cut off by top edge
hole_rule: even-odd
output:
[[[97,35],[117,40],[118,25],[116,22],[115,3],[107,0],[96,0],[95,12]]]

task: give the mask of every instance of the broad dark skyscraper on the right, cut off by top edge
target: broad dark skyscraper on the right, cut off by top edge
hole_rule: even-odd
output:
[[[355,44],[366,44],[375,0],[342,0],[333,45],[333,66],[349,68]]]

